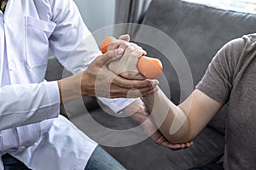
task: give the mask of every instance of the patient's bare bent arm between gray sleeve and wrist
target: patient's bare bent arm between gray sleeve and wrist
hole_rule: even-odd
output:
[[[143,97],[154,122],[172,143],[191,141],[207,126],[222,106],[200,90],[189,95],[181,105],[174,105],[161,90]]]

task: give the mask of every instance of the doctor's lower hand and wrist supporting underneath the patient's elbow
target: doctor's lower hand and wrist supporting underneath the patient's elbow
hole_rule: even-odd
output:
[[[150,139],[156,144],[160,144],[172,150],[179,150],[190,147],[193,142],[187,142],[182,144],[170,143],[162,133],[158,130],[154,122],[149,118],[148,111],[146,111],[145,105],[141,99],[137,99],[135,102],[128,105],[123,112],[126,115],[131,116],[132,119],[141,123],[145,133],[148,134]]]

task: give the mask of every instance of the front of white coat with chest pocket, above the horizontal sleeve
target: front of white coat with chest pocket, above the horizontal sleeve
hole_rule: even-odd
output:
[[[51,16],[49,4],[44,1],[9,0],[5,14],[0,14],[0,80],[6,80],[3,75],[7,73],[10,84],[44,80],[48,38],[55,28]]]

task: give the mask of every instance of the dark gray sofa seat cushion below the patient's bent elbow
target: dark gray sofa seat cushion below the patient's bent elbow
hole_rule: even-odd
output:
[[[86,127],[87,125],[84,122],[88,120],[88,116],[92,116],[96,122],[110,129],[131,129],[138,125],[137,122],[128,117],[118,118],[99,110],[90,111],[90,115],[84,114],[75,117],[72,122],[80,129],[86,129],[84,132],[92,139],[95,136],[96,138],[113,139],[114,134],[108,134],[108,137],[106,137],[106,134],[99,132],[99,129]],[[140,133],[137,133],[137,135],[140,135]],[[178,170],[217,161],[223,154],[224,135],[212,128],[206,128],[194,140],[194,145],[185,150],[170,150],[155,144],[151,139],[126,147],[103,146],[103,148],[129,170]]]

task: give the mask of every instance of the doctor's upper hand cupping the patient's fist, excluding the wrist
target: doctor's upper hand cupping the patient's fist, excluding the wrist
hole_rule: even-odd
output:
[[[96,95],[108,98],[136,98],[141,95],[154,93],[158,84],[156,80],[127,80],[108,70],[108,63],[122,58],[124,48],[108,51],[93,61],[88,69],[83,72],[82,87],[85,95]],[[137,89],[133,90],[132,89]]]

